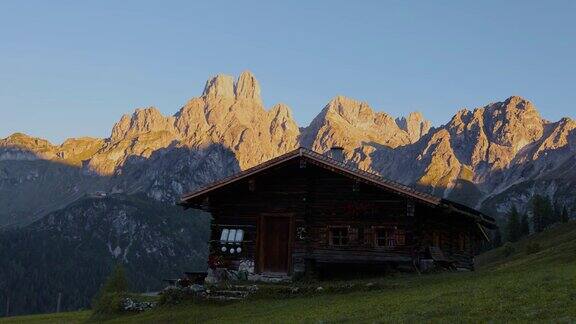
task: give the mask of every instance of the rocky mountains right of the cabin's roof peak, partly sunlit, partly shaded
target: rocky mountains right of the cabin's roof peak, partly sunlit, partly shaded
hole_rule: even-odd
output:
[[[518,183],[560,179],[554,171],[574,159],[575,137],[573,120],[548,122],[518,96],[462,109],[438,128],[418,113],[393,120],[339,96],[303,130],[301,142],[320,152],[342,146],[361,169],[482,208]],[[573,173],[564,179],[576,183]],[[535,186],[528,196],[537,192]],[[555,192],[547,194],[555,197]],[[574,200],[565,194],[558,199]]]

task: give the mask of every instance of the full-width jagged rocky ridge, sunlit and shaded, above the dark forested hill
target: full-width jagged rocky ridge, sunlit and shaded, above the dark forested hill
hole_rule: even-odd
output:
[[[71,139],[60,146],[21,134],[0,140],[0,192],[25,196],[26,183],[37,185],[35,175],[50,171],[20,167],[20,173],[13,173],[14,165],[51,161],[69,167],[63,172],[77,178],[59,186],[66,191],[58,197],[62,205],[95,190],[144,192],[174,202],[185,191],[300,145],[320,152],[339,145],[346,159],[362,169],[481,208],[522,182],[554,182],[555,170],[574,157],[574,128],[570,118],[545,121],[531,102],[517,96],[460,110],[438,128],[418,113],[395,119],[367,103],[337,96],[309,126],[298,128],[288,106],[265,109],[258,81],[244,72],[237,80],[210,78],[202,95],[173,116],[153,107],[137,109],[123,116],[107,139]],[[574,198],[546,193],[574,205]],[[30,213],[19,209],[19,199],[12,201],[10,215],[3,218]],[[0,198],[0,203],[6,201]],[[488,211],[504,209],[491,206]]]

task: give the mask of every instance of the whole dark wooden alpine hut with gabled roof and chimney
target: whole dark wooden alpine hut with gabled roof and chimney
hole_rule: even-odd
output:
[[[212,215],[210,266],[292,276],[330,265],[474,268],[494,219],[299,148],[185,194]]]

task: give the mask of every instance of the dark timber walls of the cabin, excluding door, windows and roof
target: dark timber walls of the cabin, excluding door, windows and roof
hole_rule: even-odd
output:
[[[258,221],[261,215],[290,215],[293,219],[290,271],[303,272],[314,263],[411,264],[432,245],[433,233],[441,233],[440,248],[457,266],[473,268],[477,225],[461,215],[416,203],[411,198],[326,170],[313,161],[298,159],[239,180],[208,196],[212,222],[211,255],[223,266],[257,266]],[[330,244],[330,229],[348,228],[349,244]],[[245,231],[241,253],[220,251],[222,228]],[[379,227],[405,232],[405,244],[375,245]],[[469,238],[460,249],[461,234]],[[253,269],[255,270],[255,269]]]

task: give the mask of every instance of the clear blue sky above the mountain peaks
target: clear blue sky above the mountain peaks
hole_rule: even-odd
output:
[[[0,137],[106,137],[249,69],[307,125],[337,94],[435,125],[510,95],[576,111],[576,1],[2,1]]]

